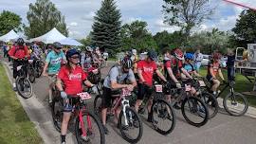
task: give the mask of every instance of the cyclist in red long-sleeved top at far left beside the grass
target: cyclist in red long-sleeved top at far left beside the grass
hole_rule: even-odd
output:
[[[16,41],[17,45],[12,45],[9,49],[9,57],[13,59],[13,79],[16,79],[18,72],[17,66],[27,63],[25,59],[28,57],[28,49],[27,46],[24,45],[24,40],[22,38],[18,38]],[[25,73],[27,74],[27,69],[25,68]],[[13,83],[13,90],[16,90],[16,84]]]

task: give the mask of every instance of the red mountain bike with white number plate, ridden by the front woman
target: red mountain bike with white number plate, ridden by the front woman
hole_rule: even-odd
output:
[[[83,143],[105,143],[105,135],[101,121],[94,113],[87,109],[87,99],[91,96],[87,92],[77,94],[77,102],[73,105],[72,117],[69,121],[75,119],[75,135],[79,144]],[[69,97],[70,98],[70,97]],[[72,99],[69,100],[71,102]],[[61,97],[54,97],[51,113],[55,128],[61,132],[63,120],[64,102]]]

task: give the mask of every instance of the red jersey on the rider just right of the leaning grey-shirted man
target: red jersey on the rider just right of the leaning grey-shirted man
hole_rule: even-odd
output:
[[[156,69],[157,65],[154,61],[148,63],[145,60],[141,60],[137,63],[137,70],[142,70],[142,77],[149,86],[153,84],[153,74]]]

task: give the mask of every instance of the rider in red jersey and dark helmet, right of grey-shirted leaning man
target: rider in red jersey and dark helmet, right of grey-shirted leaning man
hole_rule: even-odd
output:
[[[147,58],[145,60],[141,60],[137,63],[137,75],[139,78],[137,84],[137,101],[136,101],[136,111],[138,111],[139,106],[142,103],[144,97],[151,97],[152,95],[152,86],[153,86],[153,75],[156,74],[162,81],[166,81],[164,76],[157,69],[157,65],[155,63],[157,61],[157,54],[155,50],[150,50],[147,53]],[[148,102],[148,121],[152,121],[151,106],[153,104],[153,99],[149,99]]]

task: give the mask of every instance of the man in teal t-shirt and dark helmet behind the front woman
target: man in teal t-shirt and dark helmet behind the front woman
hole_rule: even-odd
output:
[[[56,75],[61,69],[61,64],[65,63],[64,52],[62,51],[63,46],[59,42],[53,43],[53,50],[51,50],[46,57],[46,63],[44,66],[43,76],[48,77],[48,85],[49,85],[49,105],[52,103],[52,87],[54,87],[53,83],[56,82]]]

